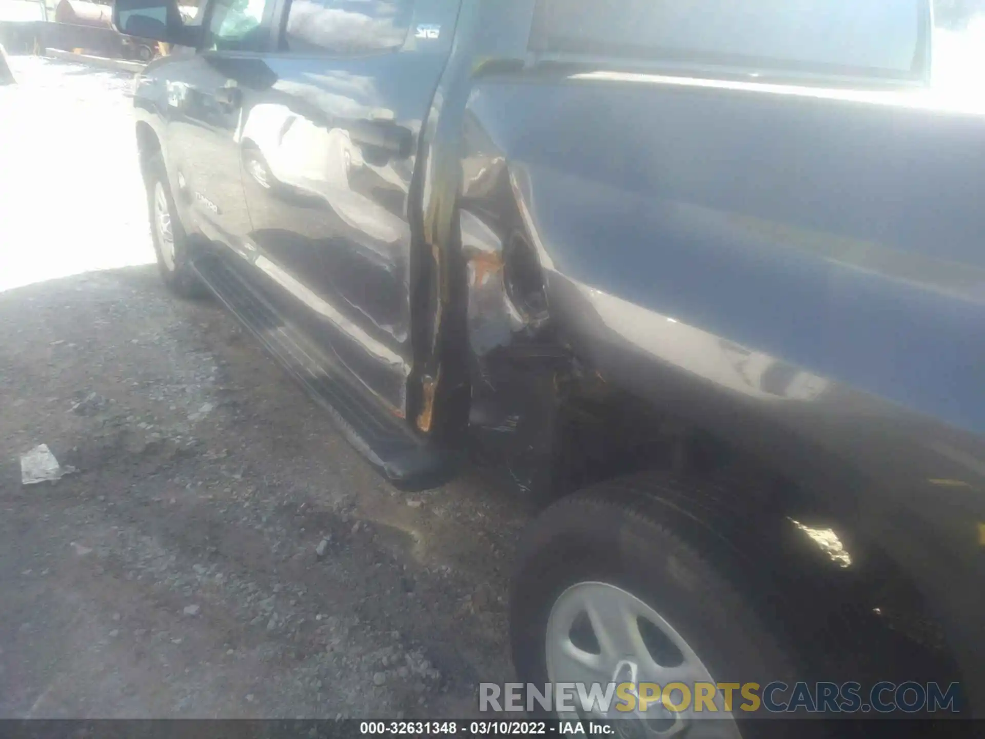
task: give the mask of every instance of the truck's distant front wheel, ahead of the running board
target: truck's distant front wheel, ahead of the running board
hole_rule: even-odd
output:
[[[191,240],[181,225],[160,154],[148,161],[145,172],[151,237],[164,285],[181,298],[202,298],[208,291],[191,266]]]

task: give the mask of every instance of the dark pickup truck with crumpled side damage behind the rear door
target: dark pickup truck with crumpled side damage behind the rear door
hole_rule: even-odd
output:
[[[756,684],[655,735],[985,718],[985,115],[929,85],[929,2],[114,23],[174,44],[134,97],[164,282],[394,485],[478,454],[544,503],[521,682]]]

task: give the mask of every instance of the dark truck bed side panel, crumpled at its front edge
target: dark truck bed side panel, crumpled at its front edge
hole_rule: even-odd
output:
[[[985,118],[517,72],[464,130],[463,237],[517,214],[552,336],[851,511],[978,644],[981,695]]]

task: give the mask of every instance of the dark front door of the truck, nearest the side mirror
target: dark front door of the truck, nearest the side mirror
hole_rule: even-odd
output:
[[[170,172],[191,227],[242,250],[250,230],[235,142],[251,90],[269,84],[260,58],[271,47],[274,0],[212,0],[194,54],[168,63]]]

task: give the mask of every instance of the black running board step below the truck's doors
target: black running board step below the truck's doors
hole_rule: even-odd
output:
[[[323,406],[346,437],[387,480],[402,490],[425,490],[455,474],[459,455],[416,437],[386,413],[340,363],[286,321],[234,270],[203,255],[195,271],[264,348]]]

